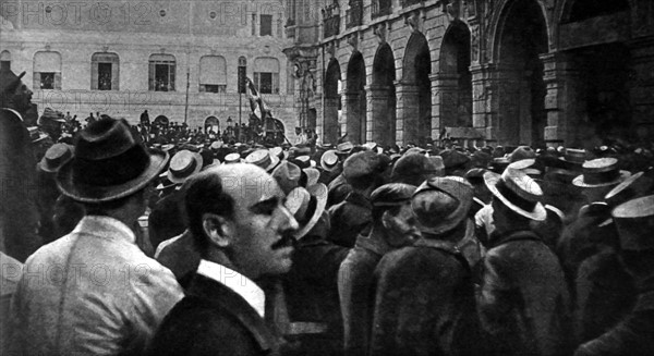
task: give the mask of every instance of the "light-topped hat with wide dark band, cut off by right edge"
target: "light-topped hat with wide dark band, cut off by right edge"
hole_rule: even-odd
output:
[[[611,212],[625,250],[654,249],[654,195],[629,200]]]

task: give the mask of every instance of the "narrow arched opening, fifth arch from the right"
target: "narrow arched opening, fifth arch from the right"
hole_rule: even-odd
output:
[[[397,97],[396,69],[388,44],[379,46],[373,62],[373,140],[380,145],[396,143]]]

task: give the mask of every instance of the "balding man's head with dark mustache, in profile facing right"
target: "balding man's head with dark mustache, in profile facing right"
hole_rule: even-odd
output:
[[[253,164],[208,169],[191,179],[189,229],[205,258],[223,255],[251,279],[291,268],[298,222],[272,176]]]

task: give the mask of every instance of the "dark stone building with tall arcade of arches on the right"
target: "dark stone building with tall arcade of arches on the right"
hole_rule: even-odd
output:
[[[324,142],[583,147],[654,135],[654,1],[286,7],[301,125]]]

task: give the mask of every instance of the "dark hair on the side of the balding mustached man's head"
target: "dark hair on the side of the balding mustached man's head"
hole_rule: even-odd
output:
[[[216,172],[201,172],[189,181],[189,188],[184,195],[186,220],[196,246],[204,254],[209,242],[203,228],[203,214],[210,212],[231,219],[234,200],[223,191],[222,180]]]

